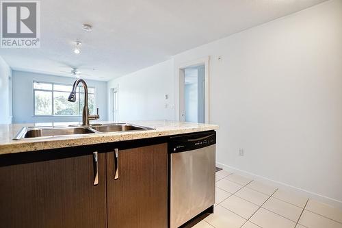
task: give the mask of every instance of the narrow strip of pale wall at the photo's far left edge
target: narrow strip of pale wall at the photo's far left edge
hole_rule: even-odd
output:
[[[0,124],[12,123],[11,77],[10,66],[0,56]]]

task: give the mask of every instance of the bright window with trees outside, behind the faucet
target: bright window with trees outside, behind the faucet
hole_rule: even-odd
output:
[[[81,116],[84,105],[84,88],[76,90],[76,102],[68,101],[73,86],[34,81],[35,116]],[[88,107],[95,112],[95,88],[88,87]]]

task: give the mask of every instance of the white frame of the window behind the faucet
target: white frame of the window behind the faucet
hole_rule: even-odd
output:
[[[44,90],[44,89],[36,89],[36,88],[34,88],[34,84],[35,83],[41,83],[41,84],[51,84],[51,86],[52,86],[52,89],[51,90]],[[33,92],[33,98],[34,98],[34,102],[33,102],[33,104],[34,104],[34,114],[33,114],[33,116],[34,117],[68,117],[68,116],[70,116],[70,117],[79,117],[79,116],[82,116],[81,114],[79,114],[79,115],[55,115],[55,114],[53,114],[54,112],[54,97],[53,97],[53,93],[54,92],[66,92],[66,91],[61,91],[61,90],[54,90],[53,88],[54,88],[54,86],[55,85],[57,85],[57,86],[71,86],[71,87],[73,87],[73,85],[72,84],[62,84],[62,83],[55,83],[55,82],[47,82],[47,81],[32,81],[32,92]],[[78,86],[79,88],[81,88],[81,86]],[[92,92],[88,92],[88,94],[94,94],[94,107],[96,107],[96,89],[95,89],[95,87],[89,87],[88,86],[88,89],[89,88],[93,88],[94,89],[94,93],[92,93]],[[51,99],[51,102],[52,102],[52,104],[51,104],[51,114],[50,115],[36,115],[36,91],[45,91],[45,92],[51,92],[52,93],[52,99]],[[81,90],[79,89],[79,95],[80,94],[82,94],[82,93],[84,93],[84,92],[80,92]],[[70,91],[71,92],[71,91]],[[81,96],[79,96],[79,97],[81,97]],[[78,99],[78,103],[79,103],[79,113],[82,113],[82,110],[81,110],[81,101],[80,101],[81,99]]]

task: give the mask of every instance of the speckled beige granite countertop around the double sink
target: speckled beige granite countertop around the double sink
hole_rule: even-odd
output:
[[[111,123],[107,121],[96,121],[94,123]],[[218,125],[202,123],[185,123],[179,121],[129,121],[127,123],[152,127],[154,130],[144,131],[116,131],[103,134],[83,134],[68,136],[50,136],[44,138],[25,138],[13,140],[14,136],[22,127],[46,127],[46,126],[68,126],[79,123],[34,123],[34,124],[8,124],[0,125],[0,155],[7,153],[21,153],[27,151],[42,151],[45,149],[57,149],[75,147],[105,142],[118,142],[125,140],[136,140],[142,138],[155,138],[160,136],[172,136],[198,131],[209,131],[218,129]]]

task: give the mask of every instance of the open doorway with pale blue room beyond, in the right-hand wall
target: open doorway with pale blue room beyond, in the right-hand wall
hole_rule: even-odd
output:
[[[205,123],[205,65],[183,71],[185,121]]]

